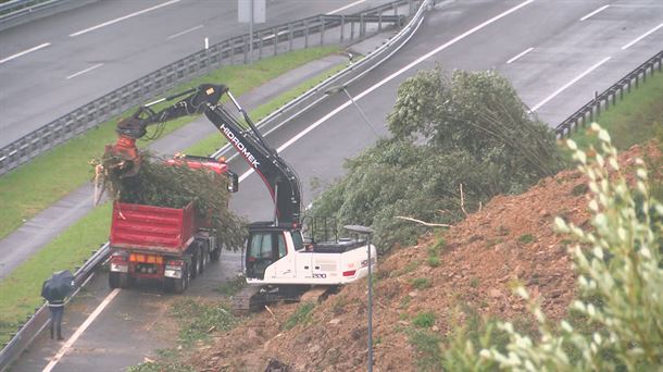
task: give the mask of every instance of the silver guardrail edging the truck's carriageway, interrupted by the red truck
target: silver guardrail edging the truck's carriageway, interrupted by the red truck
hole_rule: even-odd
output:
[[[334,76],[325,79],[323,83],[318,84],[316,87],[310,89],[304,92],[302,96],[296,98],[290,101],[288,104],[284,106],[279,109],[275,114],[272,114],[265,119],[263,119],[260,123],[266,123],[267,121],[283,114],[284,112],[291,110],[296,107],[300,107],[307,99],[310,99],[312,95],[318,94],[321,91],[324,92],[324,89],[332,84],[337,84],[343,78],[347,78],[345,84],[349,84],[356,78],[360,78],[373,67],[379,65],[387,58],[393,54],[400,47],[406,42],[416,26],[423,20],[424,10],[428,4],[434,3],[434,0],[418,0],[418,1],[410,1],[410,0],[401,0],[396,1],[395,3],[400,4],[408,3],[411,9],[414,7],[414,3],[418,3],[418,11],[412,17],[410,23],[395,37],[392,37],[388,42],[380,46],[378,49],[370,53],[362,61],[345,69],[343,71],[335,74]],[[381,60],[377,60],[378,57],[383,57]],[[308,106],[310,107],[310,104]],[[259,124],[260,124],[259,123]],[[93,269],[103,262],[110,255],[110,245],[109,243],[104,244],[98,251],[96,251],[92,257],[85,262],[85,264],[79,268],[75,273],[76,286],[80,287],[86,280],[90,276]],[[28,315],[26,322],[22,324],[16,334],[13,335],[12,339],[5,344],[0,351],[0,371],[4,372],[11,363],[21,356],[23,350],[32,344],[32,342],[37,337],[37,335],[48,325],[49,322],[49,313],[48,307],[41,306],[39,309],[36,309],[33,315]]]

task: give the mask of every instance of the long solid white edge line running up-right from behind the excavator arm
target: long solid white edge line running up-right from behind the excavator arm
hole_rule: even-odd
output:
[[[465,32],[464,34],[456,36],[455,38],[445,42],[443,45],[435,48],[434,50],[427,52],[426,54],[417,58],[416,60],[410,62],[410,64],[405,65],[404,67],[402,67],[401,70],[395,72],[393,74],[385,77],[384,79],[377,82],[375,85],[373,85],[372,87],[367,88],[366,90],[362,91],[361,94],[354,96],[354,100],[359,101],[360,99],[362,99],[363,97],[365,97],[366,95],[370,95],[371,92],[373,92],[375,89],[381,87],[383,85],[391,82],[392,79],[395,79],[396,77],[398,77],[399,75],[402,75],[403,73],[408,72],[410,69],[416,66],[417,64],[422,63],[423,61],[427,60],[428,58],[435,55],[436,53],[451,47],[452,45],[456,44],[458,41],[466,38],[467,36],[480,30],[481,28],[497,22],[498,20],[501,20],[502,17],[517,11],[518,9],[530,4],[531,2],[534,2],[535,0],[527,0],[525,2],[522,2],[518,5],[515,5],[513,8],[511,8],[510,10],[500,13],[496,16],[493,16],[492,18],[481,23],[480,25]],[[318,127],[321,124],[323,124],[324,122],[326,122],[329,117],[336,115],[339,111],[343,110],[345,108],[347,108],[348,106],[352,104],[352,102],[350,100],[346,101],[345,103],[342,103],[341,106],[339,106],[338,108],[334,109],[332,112],[329,112],[328,114],[324,115],[323,117],[318,119],[315,123],[309,125],[305,129],[303,129],[302,132],[300,132],[299,134],[297,134],[295,137],[290,138],[288,141],[286,141],[284,145],[282,145],[278,149],[276,149],[276,152],[282,152],[283,150],[287,149],[288,147],[290,147],[290,145],[295,144],[297,140],[299,140],[301,137],[305,136],[307,134],[309,134],[311,131],[315,129],[316,127]],[[247,172],[245,172],[241,176],[239,176],[239,182],[243,181],[246,177],[248,177],[249,175],[251,175],[251,173],[253,173],[253,169],[248,170]]]

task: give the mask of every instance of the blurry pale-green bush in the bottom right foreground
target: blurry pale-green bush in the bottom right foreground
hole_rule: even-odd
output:
[[[515,371],[656,371],[663,365],[663,204],[648,189],[643,162],[635,170],[630,188],[617,163],[608,132],[598,133],[598,151],[591,159],[574,151],[578,169],[589,177],[592,232],[555,220],[556,230],[575,236],[574,269],[578,299],[572,310],[587,324],[551,324],[539,302],[524,287],[516,293],[529,303],[540,337],[523,335],[511,322],[498,327],[509,335],[502,348],[489,343],[452,343],[445,356],[450,370],[484,371],[499,365]],[[613,179],[609,174],[614,172]],[[486,332],[487,334],[489,332]],[[488,339],[490,337],[485,337]],[[475,351],[483,348],[478,354]]]

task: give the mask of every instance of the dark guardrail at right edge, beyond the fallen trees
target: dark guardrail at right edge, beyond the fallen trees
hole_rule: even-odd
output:
[[[647,79],[647,72],[651,76],[655,70],[661,72],[661,64],[663,63],[663,50],[658,52],[654,57],[647,60],[638,67],[636,67],[626,76],[622,77],[617,83],[613,84],[610,88],[605,89],[602,94],[596,94],[595,98],[583,106],[578,111],[574,112],[564,120],[555,128],[555,135],[559,138],[568,137],[571,131],[578,131],[578,127],[585,127],[588,123],[591,123],[596,115],[601,114],[601,108],[608,110],[612,102],[613,106],[617,103],[617,96],[620,100],[624,98],[624,90],[630,92],[631,87],[635,85],[637,88],[640,84],[640,79],[645,82]],[[658,67],[656,67],[658,65]]]

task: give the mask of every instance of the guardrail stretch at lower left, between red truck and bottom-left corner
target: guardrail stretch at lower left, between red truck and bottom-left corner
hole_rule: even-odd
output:
[[[109,244],[101,246],[92,257],[86,260],[78,270],[74,273],[76,288],[82,288],[87,278],[92,273],[92,270],[102,263],[110,253]],[[78,290],[76,289],[76,292]],[[48,306],[45,303],[35,310],[35,313],[27,315],[25,323],[21,324],[16,334],[12,339],[0,350],[0,371],[5,371],[11,363],[16,360],[21,352],[27,348],[29,344],[39,335],[39,333],[49,324],[50,314]]]

